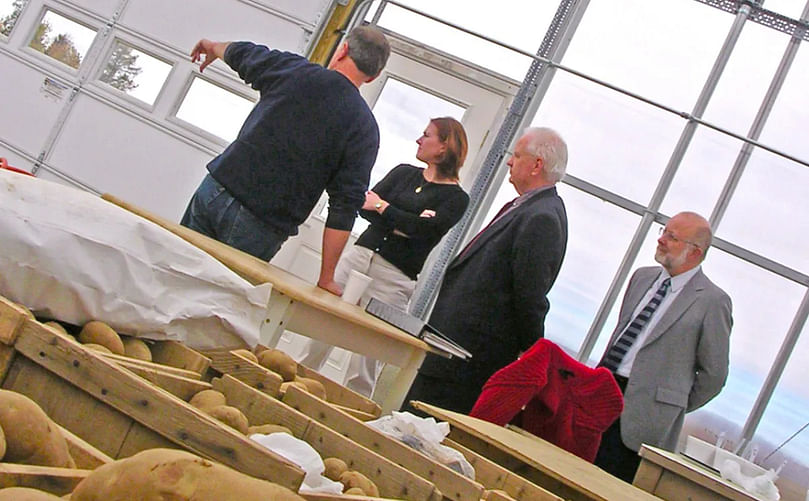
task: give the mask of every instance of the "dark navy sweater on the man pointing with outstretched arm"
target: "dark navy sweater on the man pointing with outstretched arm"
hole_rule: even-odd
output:
[[[345,76],[250,42],[225,62],[261,97],[239,135],[208,164],[211,176],[259,219],[298,233],[323,190],[326,226],[350,230],[365,201],[379,129]]]

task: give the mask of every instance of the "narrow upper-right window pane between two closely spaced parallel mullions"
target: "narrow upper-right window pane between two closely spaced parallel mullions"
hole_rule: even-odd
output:
[[[760,24],[745,23],[704,118],[746,136],[770,86],[789,37]]]

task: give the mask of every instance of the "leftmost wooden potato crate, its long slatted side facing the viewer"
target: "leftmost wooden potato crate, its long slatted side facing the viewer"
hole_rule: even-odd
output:
[[[175,347],[176,348],[176,347]],[[0,298],[0,384],[105,454],[182,448],[297,491],[303,471]]]

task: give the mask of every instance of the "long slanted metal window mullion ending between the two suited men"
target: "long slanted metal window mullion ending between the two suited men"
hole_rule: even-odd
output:
[[[604,325],[607,323],[610,311],[612,311],[615,302],[618,300],[618,294],[623,288],[624,282],[629,276],[630,269],[637,259],[638,253],[640,252],[643,242],[649,232],[649,228],[655,221],[655,215],[660,210],[663,199],[671,187],[674,176],[677,174],[680,163],[682,162],[685,152],[688,149],[688,146],[691,144],[691,139],[694,137],[694,133],[697,130],[698,121],[705,112],[705,108],[708,106],[708,101],[713,95],[714,90],[716,90],[716,86],[719,83],[719,77],[722,75],[725,66],[727,66],[727,62],[730,59],[730,54],[733,51],[739,36],[741,35],[742,27],[744,26],[749,14],[750,7],[747,5],[741,6],[736,14],[736,19],[734,19],[733,25],[730,27],[727,37],[725,37],[722,50],[720,50],[719,55],[714,61],[714,65],[711,68],[711,72],[708,74],[705,85],[703,85],[702,91],[697,98],[697,102],[694,104],[694,109],[691,112],[691,115],[688,117],[688,122],[685,124],[683,132],[680,134],[680,139],[677,141],[674,152],[669,158],[669,162],[666,165],[666,169],[663,171],[655,192],[652,194],[652,198],[648,204],[648,209],[643,214],[643,217],[635,230],[635,234],[632,236],[632,240],[629,243],[629,247],[621,259],[621,264],[618,267],[618,271],[615,273],[612,283],[610,283],[610,286],[607,289],[607,295],[601,302],[595,318],[590,325],[590,329],[587,331],[584,341],[582,341],[582,345],[579,348],[579,353],[577,355],[578,360],[581,362],[586,361],[590,357],[590,354],[598,341],[598,337],[601,334]]]

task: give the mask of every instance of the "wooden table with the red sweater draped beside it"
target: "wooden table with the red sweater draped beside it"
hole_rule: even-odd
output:
[[[441,409],[423,402],[415,407],[441,421],[449,437],[521,477],[572,501],[659,501],[601,468],[539,437]]]

